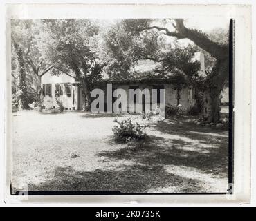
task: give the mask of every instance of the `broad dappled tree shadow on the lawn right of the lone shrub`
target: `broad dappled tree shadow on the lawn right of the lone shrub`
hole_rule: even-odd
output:
[[[223,130],[194,126],[191,122],[152,124],[164,137],[149,135],[142,148],[102,151],[99,156],[129,159],[147,166],[187,166],[201,173],[228,177],[228,137]],[[174,137],[174,138],[172,138]],[[180,138],[179,138],[180,137]]]

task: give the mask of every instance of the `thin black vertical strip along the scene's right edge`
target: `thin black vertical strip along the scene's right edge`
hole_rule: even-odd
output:
[[[228,130],[228,183],[229,183],[229,193],[232,193],[233,188],[233,175],[234,175],[234,139],[233,139],[233,127],[234,127],[234,99],[233,99],[233,75],[234,75],[234,19],[230,19],[229,26],[229,130]]]

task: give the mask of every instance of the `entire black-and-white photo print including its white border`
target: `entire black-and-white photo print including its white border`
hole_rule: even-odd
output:
[[[251,6],[5,7],[5,204],[250,203]]]

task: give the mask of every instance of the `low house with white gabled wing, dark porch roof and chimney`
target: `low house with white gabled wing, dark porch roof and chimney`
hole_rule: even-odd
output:
[[[204,58],[203,55],[198,56],[201,61],[201,72],[204,71]],[[143,63],[144,62],[144,63]],[[140,70],[139,70],[140,69]],[[143,71],[145,70],[145,71]],[[159,97],[160,89],[165,89],[165,104],[170,104],[172,106],[177,106],[181,104],[185,110],[190,110],[194,106],[195,100],[195,88],[192,86],[183,86],[179,88],[176,81],[179,77],[181,81],[181,75],[177,76],[174,73],[170,73],[170,76],[162,77],[161,74],[157,75],[154,73],[154,64],[146,61],[142,61],[142,64],[138,65],[138,69],[134,70],[134,77],[129,77],[129,79],[116,79],[109,80],[104,79],[95,85],[95,88],[100,88],[106,92],[107,84],[112,84],[113,91],[117,88],[122,88],[129,94],[129,89],[139,88],[143,90],[148,88],[149,90],[156,89],[157,97]],[[41,84],[44,95],[44,106],[46,108],[57,108],[57,103],[55,99],[59,97],[62,99],[64,108],[66,110],[82,110],[83,99],[82,99],[82,87],[80,86],[75,76],[69,73],[60,72],[58,75],[53,75],[54,69],[48,71],[41,76]],[[179,72],[179,70],[177,70]],[[185,76],[183,76],[183,81],[185,82]],[[105,93],[106,94],[106,93]],[[105,97],[106,99],[106,97]],[[112,102],[115,101],[113,98]],[[138,100],[134,98],[134,102],[142,102],[142,109],[135,110],[136,113],[142,113],[145,111],[145,103],[151,102],[145,99]],[[151,104],[151,108],[155,108]],[[134,108],[134,104],[129,102],[127,97],[127,112],[131,111]]]

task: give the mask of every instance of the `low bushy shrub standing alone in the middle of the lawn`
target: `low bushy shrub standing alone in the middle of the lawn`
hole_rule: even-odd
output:
[[[125,119],[121,122],[115,121],[118,125],[113,127],[113,134],[116,142],[129,142],[131,140],[144,140],[146,137],[145,128],[138,123],[132,123],[131,119]]]

